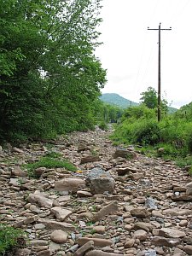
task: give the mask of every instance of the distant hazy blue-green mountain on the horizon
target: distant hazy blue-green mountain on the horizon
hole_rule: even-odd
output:
[[[130,100],[127,100],[116,93],[103,93],[102,96],[100,96],[100,99],[102,102],[115,105],[119,108],[128,108],[139,105],[137,102],[131,102]]]

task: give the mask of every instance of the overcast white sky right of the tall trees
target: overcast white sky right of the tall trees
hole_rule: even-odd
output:
[[[139,102],[158,86],[158,31],[161,31],[161,94],[172,107],[192,102],[192,0],[102,0],[102,46],[96,56],[108,69],[102,93]]]

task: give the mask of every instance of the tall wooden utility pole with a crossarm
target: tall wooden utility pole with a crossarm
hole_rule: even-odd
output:
[[[159,28],[149,28],[148,27],[148,30],[158,30],[159,31],[157,119],[158,119],[158,122],[160,122],[160,113],[161,113],[161,108],[160,108],[160,31],[161,30],[172,30],[172,27],[170,26],[170,28],[160,28],[160,25],[159,25]]]

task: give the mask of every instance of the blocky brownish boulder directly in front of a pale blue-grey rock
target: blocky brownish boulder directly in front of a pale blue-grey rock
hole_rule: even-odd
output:
[[[94,195],[102,194],[105,191],[113,193],[114,191],[114,179],[113,177],[97,177],[90,182],[90,192]]]

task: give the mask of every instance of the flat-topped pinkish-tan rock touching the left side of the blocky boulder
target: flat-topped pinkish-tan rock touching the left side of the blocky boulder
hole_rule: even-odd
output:
[[[64,178],[55,183],[56,191],[71,191],[77,192],[79,189],[85,187],[85,181],[78,177]]]

